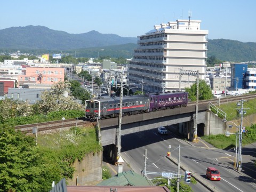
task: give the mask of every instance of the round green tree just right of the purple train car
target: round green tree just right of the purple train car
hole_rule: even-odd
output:
[[[186,87],[185,91],[188,92],[188,98],[191,101],[196,101],[196,82],[189,88]],[[212,99],[212,91],[209,85],[202,79],[199,79],[199,95],[198,100]]]

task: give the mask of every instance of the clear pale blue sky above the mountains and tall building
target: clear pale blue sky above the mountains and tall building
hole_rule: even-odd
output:
[[[255,0],[8,0],[1,1],[0,29],[45,26],[69,34],[137,37],[154,25],[201,20],[209,39],[256,42]]]

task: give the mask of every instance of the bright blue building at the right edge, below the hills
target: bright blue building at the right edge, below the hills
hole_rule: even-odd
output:
[[[234,63],[231,65],[231,84],[232,90],[246,89],[247,63]]]

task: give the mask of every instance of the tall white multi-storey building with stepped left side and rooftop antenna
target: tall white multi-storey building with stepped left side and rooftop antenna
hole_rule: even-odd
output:
[[[200,24],[200,20],[177,20],[138,36],[128,82],[143,86],[143,92],[161,93],[195,83],[195,76],[180,75],[180,69],[199,71],[199,78],[205,79],[208,30],[201,30]]]

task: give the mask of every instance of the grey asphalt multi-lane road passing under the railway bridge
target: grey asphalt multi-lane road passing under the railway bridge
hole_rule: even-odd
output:
[[[145,149],[147,149],[147,171],[177,173],[177,165],[167,159],[166,154],[171,145],[171,157],[178,159],[178,146],[180,145],[181,164],[189,167],[189,171],[197,174],[206,185],[213,186],[216,191],[256,191],[255,179],[234,170],[235,154],[233,151],[219,150],[210,146],[209,143],[199,142],[191,145],[172,133],[159,135],[157,129],[124,135],[121,141],[121,156],[137,173],[143,170]],[[214,166],[220,171],[221,181],[210,181],[205,178],[207,166]],[[247,169],[245,164],[242,167]],[[254,170],[252,167],[249,169],[255,172],[255,167]],[[184,171],[181,170],[180,173],[184,174]],[[158,176],[160,175],[148,175],[150,179]],[[207,191],[199,183],[189,185],[194,191]]]

